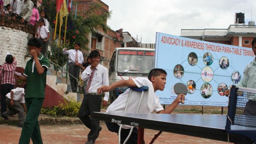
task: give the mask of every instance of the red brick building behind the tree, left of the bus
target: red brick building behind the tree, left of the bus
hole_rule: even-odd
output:
[[[102,5],[101,11],[108,12],[108,5],[103,3],[100,0],[74,0],[74,1],[77,4],[78,14],[79,12],[84,12],[88,10],[89,6],[92,3],[100,3]],[[76,6],[73,5],[73,9],[75,8]],[[107,68],[109,65],[109,61],[112,57],[112,54],[114,52],[114,49],[116,47],[124,47],[124,42],[123,42],[124,37],[122,36],[122,32],[119,32],[117,34],[117,32],[114,30],[107,30],[107,32],[104,32],[102,29],[95,29],[94,31],[92,31],[87,35],[87,38],[89,39],[89,44],[87,45],[87,47],[90,50],[83,52],[84,58],[85,58],[84,60],[86,60],[87,56],[92,50],[97,50],[100,52],[100,56],[101,56],[100,64]]]

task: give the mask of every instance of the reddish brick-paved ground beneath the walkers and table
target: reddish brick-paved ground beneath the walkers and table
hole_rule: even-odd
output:
[[[102,131],[96,144],[117,144],[118,137],[116,133],[109,132],[105,123],[100,124]],[[83,144],[87,141],[87,129],[84,125],[40,125],[41,134],[44,144]],[[20,138],[21,128],[11,125],[0,125],[0,143],[1,144],[17,144]],[[155,130],[145,129],[145,143],[148,144],[154,135],[158,133]],[[30,142],[32,143],[32,141]],[[216,140],[208,140],[203,138],[173,134],[163,132],[155,141],[155,144],[176,144],[176,143],[225,143]]]

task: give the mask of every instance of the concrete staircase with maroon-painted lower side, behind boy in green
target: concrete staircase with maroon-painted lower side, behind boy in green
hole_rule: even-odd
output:
[[[68,97],[76,100],[82,101],[84,98],[83,94],[72,92],[69,79],[66,80],[63,77],[62,72],[57,72],[54,70],[54,66],[50,64],[51,67],[48,68],[46,76],[46,87],[45,87],[45,99],[43,107],[52,107],[63,102],[63,98],[69,99]]]

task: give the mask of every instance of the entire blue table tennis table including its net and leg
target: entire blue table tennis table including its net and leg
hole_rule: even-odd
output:
[[[235,91],[236,90],[236,91]],[[237,89],[231,89],[231,94]],[[238,96],[246,96],[244,95]],[[238,113],[241,98],[229,97],[228,115],[189,115],[189,114],[135,114],[93,112],[93,118],[117,124],[139,127],[138,143],[143,143],[144,128],[172,132],[232,143],[256,142],[256,116]],[[230,105],[238,101],[237,104]],[[248,101],[248,100],[247,100]],[[239,106],[239,107],[238,107]],[[256,106],[254,107],[256,108]],[[234,111],[234,109],[238,109]],[[255,109],[254,109],[255,110]],[[237,120],[246,120],[248,126]],[[235,123],[235,124],[234,124]],[[238,123],[238,124],[236,124]],[[166,138],[168,139],[168,138]]]

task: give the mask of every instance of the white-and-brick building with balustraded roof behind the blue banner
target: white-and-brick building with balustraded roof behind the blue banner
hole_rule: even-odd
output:
[[[227,29],[181,29],[181,36],[207,42],[252,47],[256,25],[230,25]]]

